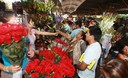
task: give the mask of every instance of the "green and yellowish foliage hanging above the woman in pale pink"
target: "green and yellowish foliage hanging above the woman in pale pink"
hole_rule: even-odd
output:
[[[32,17],[37,28],[43,29],[44,26],[47,26],[47,23],[52,24],[53,17],[50,16],[52,1],[48,2],[38,2],[34,0],[21,1],[23,9]],[[52,27],[52,25],[50,25]]]

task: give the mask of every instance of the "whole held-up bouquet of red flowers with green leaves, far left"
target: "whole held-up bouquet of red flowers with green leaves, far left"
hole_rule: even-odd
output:
[[[21,24],[0,25],[0,47],[3,55],[12,65],[21,65],[27,49],[26,35],[28,30]]]

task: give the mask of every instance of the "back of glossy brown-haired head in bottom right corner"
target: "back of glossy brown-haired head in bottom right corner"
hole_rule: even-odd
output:
[[[112,59],[103,66],[103,78],[128,78],[128,63],[120,59]]]

